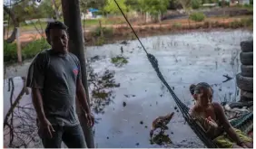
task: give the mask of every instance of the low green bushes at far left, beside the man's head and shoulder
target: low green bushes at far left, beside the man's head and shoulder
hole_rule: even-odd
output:
[[[44,38],[34,40],[33,42],[27,43],[22,47],[22,58],[23,60],[32,59],[34,56],[44,49],[48,49],[51,46],[46,42]],[[16,43],[4,43],[4,61],[15,62],[17,61],[17,48]]]

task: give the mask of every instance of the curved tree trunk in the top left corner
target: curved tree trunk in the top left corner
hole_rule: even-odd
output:
[[[7,38],[7,40],[5,40],[5,42],[7,42],[7,43],[12,43],[12,42],[15,42],[16,33],[17,33],[16,28],[19,27],[20,24],[19,24],[18,18],[16,18],[16,16],[15,16],[15,13],[10,8],[8,8],[6,5],[4,5],[4,11],[5,11],[6,14],[9,14],[10,18],[12,19],[12,21],[14,23],[13,33],[11,34],[11,36],[9,36]],[[10,24],[8,24],[8,25],[10,25]]]

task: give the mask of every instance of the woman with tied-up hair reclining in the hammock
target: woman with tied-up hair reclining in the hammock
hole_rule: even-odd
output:
[[[195,99],[191,116],[200,122],[206,134],[220,148],[253,148],[253,141],[241,130],[231,126],[219,103],[212,102],[212,88],[207,83],[191,85]]]

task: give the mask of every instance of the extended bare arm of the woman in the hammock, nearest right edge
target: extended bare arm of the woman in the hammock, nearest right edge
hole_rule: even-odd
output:
[[[224,131],[231,137],[232,140],[240,145],[242,143],[241,139],[236,134],[227,117],[225,116],[222,106],[219,103],[212,103],[212,105],[214,106],[214,110],[218,116],[218,119],[220,120],[221,126],[223,127]]]

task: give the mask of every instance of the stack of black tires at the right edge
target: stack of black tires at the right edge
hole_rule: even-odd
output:
[[[253,41],[241,42],[241,73],[236,75],[241,102],[253,101]]]

